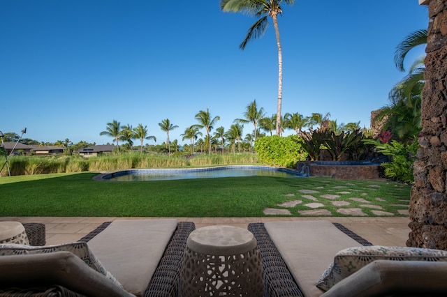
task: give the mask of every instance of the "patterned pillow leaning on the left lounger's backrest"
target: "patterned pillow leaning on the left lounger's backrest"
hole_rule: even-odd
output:
[[[48,254],[52,252],[71,252],[76,257],[80,258],[88,266],[93,268],[98,273],[101,273],[107,277],[110,281],[117,284],[119,287],[122,285],[117,279],[105,270],[103,264],[95,257],[95,255],[89,249],[87,243],[75,242],[75,243],[63,243],[61,245],[44,245],[44,246],[32,246],[32,245],[18,245],[18,244],[1,244],[0,256],[8,255],[20,255],[20,254]]]

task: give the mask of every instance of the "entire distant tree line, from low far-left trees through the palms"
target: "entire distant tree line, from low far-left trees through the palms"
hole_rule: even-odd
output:
[[[286,129],[293,130],[295,135],[300,136],[302,131],[306,128],[312,130],[314,127],[321,125],[321,123],[325,121],[328,122],[330,129],[337,133],[360,129],[360,121],[357,123],[347,123],[344,125],[343,123],[338,124],[337,120],[332,121],[329,118],[330,113],[326,113],[324,115],[312,113],[312,116],[303,116],[298,112],[293,114],[286,113],[281,117],[281,129],[279,136],[282,136],[282,133]],[[276,128],[276,114],[267,116],[263,107],[258,108],[256,105],[256,100],[247,105],[242,119],[235,119],[228,130],[226,130],[223,126],[219,126],[214,129],[220,120],[220,116],[212,116],[209,109],[200,110],[196,114],[195,119],[197,123],[186,127],[184,132],[181,134],[182,141],[189,142],[189,144],[184,144],[184,147],[189,148],[191,153],[194,153],[196,148],[198,151],[211,152],[213,149],[217,151],[217,148],[220,148],[220,150],[223,151],[223,148],[227,145],[229,146],[228,151],[235,152],[236,146],[237,150],[240,151],[241,145],[244,151],[252,151],[256,139],[267,135],[274,135]],[[247,133],[246,135],[243,134],[245,124],[250,124],[252,128],[251,132]],[[177,139],[171,141],[169,133],[170,131],[179,128],[179,126],[171,123],[170,119],[163,119],[158,123],[158,125],[163,132],[166,132],[166,141],[160,146],[143,144],[145,140],[154,140],[154,142],[156,142],[157,139],[155,136],[149,135],[147,125],[143,125],[142,123],[138,123],[137,127],[133,127],[130,123],[122,125],[119,121],[114,119],[110,123],[106,124],[105,130],[100,132],[100,135],[112,137],[114,139],[113,143],[118,149],[121,147],[126,150],[132,150],[134,147],[134,141],[136,140],[140,144],[140,151],[143,151],[143,149],[166,153],[178,151],[179,142]],[[5,133],[5,142],[16,142],[18,139],[19,135],[16,133]],[[57,142],[52,143],[38,142],[34,139],[22,138],[20,139],[20,142],[23,144],[34,144],[38,146],[54,145],[71,148],[67,151],[67,153],[73,153],[73,151],[77,151],[80,148],[95,145],[95,143],[88,143],[84,141],[81,141],[78,144],[73,144],[73,142],[69,139],[57,140]]]

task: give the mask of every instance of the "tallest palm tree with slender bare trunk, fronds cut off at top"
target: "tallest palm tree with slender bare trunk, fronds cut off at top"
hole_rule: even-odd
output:
[[[279,38],[278,15],[282,15],[281,3],[293,5],[295,0],[221,0],[221,10],[224,12],[247,13],[260,17],[251,25],[247,36],[239,45],[241,50],[250,40],[261,38],[265,30],[268,28],[268,17],[272,17],[274,33],[278,47],[278,106],[276,118],[277,135],[281,135],[281,105],[282,105],[282,49],[281,40]]]

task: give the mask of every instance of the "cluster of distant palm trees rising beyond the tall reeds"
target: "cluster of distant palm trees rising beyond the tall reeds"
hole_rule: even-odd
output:
[[[273,131],[276,128],[276,114],[266,116],[263,107],[259,108],[256,105],[256,100],[254,100],[247,105],[243,115],[244,118],[235,119],[228,130],[225,130],[223,126],[219,126],[214,130],[214,127],[220,120],[220,116],[212,116],[209,109],[200,110],[200,112],[198,112],[195,116],[198,123],[190,125],[184,130],[181,134],[182,140],[189,140],[189,148],[191,149],[191,153],[194,153],[196,146],[200,146],[201,151],[208,151],[209,153],[212,152],[213,148],[215,151],[219,148],[223,153],[227,144],[230,144],[230,150],[234,153],[236,146],[237,151],[241,150],[242,143],[249,144],[249,151],[252,151],[254,141],[256,141],[258,137],[264,137],[266,136],[266,133],[270,133],[270,135],[273,134]],[[280,135],[282,135],[285,129],[290,129],[294,130],[296,135],[300,137],[304,128],[309,128],[309,130],[312,130],[314,126],[321,125],[323,122],[325,122],[325,124],[335,132],[342,132],[344,130],[353,131],[359,129],[358,125],[360,122],[337,125],[337,121],[331,121],[329,116],[329,113],[325,115],[314,113],[312,116],[307,117],[302,116],[302,114],[299,114],[298,112],[293,114],[286,113],[284,117],[281,117]],[[251,123],[253,126],[253,131],[244,136],[244,124],[247,123]],[[173,142],[170,141],[169,132],[179,127],[178,125],[171,123],[169,119],[163,119],[159,123],[159,127],[163,132],[166,132],[165,146],[168,149],[168,153],[171,153],[171,144],[173,144],[176,148],[178,148],[178,145],[177,139]],[[205,130],[205,133],[201,132],[200,130]],[[156,141],[156,137],[148,135],[147,125],[143,126],[142,124],[138,124],[136,128],[132,128],[132,125],[121,125],[121,123],[116,120],[107,123],[105,130],[101,132],[100,135],[114,137],[117,146],[119,146],[119,141],[126,142],[129,148],[132,148],[133,146],[133,139],[140,139],[141,151],[143,149],[143,141],[145,139],[153,139]],[[205,139],[201,139],[199,136],[205,136]],[[247,146],[244,146],[244,148],[246,147]]]

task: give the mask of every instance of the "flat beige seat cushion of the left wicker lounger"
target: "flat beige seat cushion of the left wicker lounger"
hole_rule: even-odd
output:
[[[115,220],[88,245],[126,291],[142,296],[176,228],[175,219]]]

